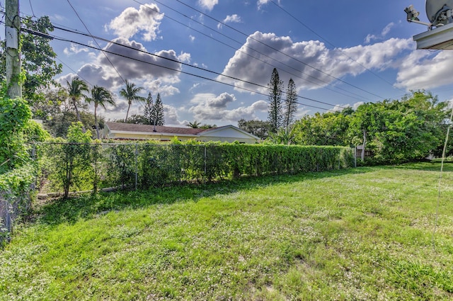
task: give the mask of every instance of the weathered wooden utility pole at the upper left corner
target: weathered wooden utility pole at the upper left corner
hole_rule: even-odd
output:
[[[22,97],[21,56],[19,41],[21,35],[21,17],[19,16],[19,0],[6,0],[6,86],[10,98]]]

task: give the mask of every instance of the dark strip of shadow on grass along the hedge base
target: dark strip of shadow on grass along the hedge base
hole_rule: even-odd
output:
[[[278,183],[296,183],[319,178],[343,176],[347,174],[365,174],[382,167],[359,167],[333,171],[308,172],[278,176],[243,176],[234,180],[222,180],[215,183],[185,183],[176,186],[149,188],[146,191],[116,191],[94,195],[79,195],[63,200],[49,200],[35,209],[28,222],[42,222],[45,225],[58,225],[63,222],[74,223],[87,220],[110,211],[147,208],[156,204],[197,201],[214,195],[224,195],[239,191],[251,191]]]

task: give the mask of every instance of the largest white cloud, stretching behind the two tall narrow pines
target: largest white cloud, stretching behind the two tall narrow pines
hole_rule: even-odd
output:
[[[318,89],[336,81],[333,76],[340,78],[365,72],[362,66],[377,70],[396,67],[396,57],[412,48],[412,40],[392,38],[373,45],[358,45],[338,51],[329,50],[323,42],[316,40],[293,42],[289,37],[256,32],[229,59],[222,72],[242,81],[226,79],[224,76],[218,76],[217,80],[235,84],[238,91],[243,91],[239,88],[245,88],[266,93],[267,87],[257,89],[255,85],[244,81],[267,86],[273,68],[277,67],[283,81],[287,82],[292,77],[298,89]],[[355,62],[345,55],[352,57]]]

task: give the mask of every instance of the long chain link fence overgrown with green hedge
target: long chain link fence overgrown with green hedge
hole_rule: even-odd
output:
[[[243,175],[294,174],[354,166],[352,149],[253,144],[39,143],[41,193],[147,189]]]

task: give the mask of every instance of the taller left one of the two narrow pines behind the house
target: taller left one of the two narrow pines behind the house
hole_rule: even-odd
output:
[[[282,91],[283,81],[280,81],[277,69],[274,68],[270,81],[268,84],[269,88],[269,108],[268,108],[268,120],[270,123],[270,132],[277,132],[277,130],[283,124],[282,115]]]

